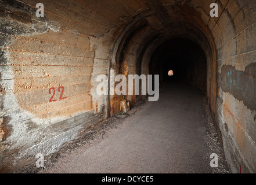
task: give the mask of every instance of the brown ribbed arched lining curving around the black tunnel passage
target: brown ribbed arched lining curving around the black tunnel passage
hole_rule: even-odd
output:
[[[114,49],[110,67],[120,71],[120,62],[125,61],[129,71],[147,74],[152,54],[167,40],[183,38],[201,47],[207,60],[207,96],[212,111],[216,112],[217,54],[210,16],[210,2],[205,1],[139,1],[138,13],[127,18],[122,28],[114,32]],[[132,3],[130,4],[132,6]],[[222,5],[219,5],[219,9]],[[211,26],[210,26],[211,25]],[[108,38],[109,39],[109,38]],[[134,57],[131,57],[134,56]],[[126,64],[127,63],[127,64]],[[136,66],[136,69],[133,68]],[[121,65],[122,68],[122,65]],[[132,69],[131,69],[132,68]]]

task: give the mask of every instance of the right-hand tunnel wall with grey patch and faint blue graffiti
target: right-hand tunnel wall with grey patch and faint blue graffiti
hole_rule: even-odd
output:
[[[218,1],[217,1],[218,2]],[[256,172],[256,1],[222,1],[215,34],[218,122],[232,172]]]

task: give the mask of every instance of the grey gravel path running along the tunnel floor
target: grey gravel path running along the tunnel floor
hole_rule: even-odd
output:
[[[186,83],[165,84],[157,102],[111,117],[45,160],[21,173],[228,173],[206,98]]]

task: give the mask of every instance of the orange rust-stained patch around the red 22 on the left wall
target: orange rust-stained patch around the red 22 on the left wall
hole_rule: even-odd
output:
[[[55,32],[52,32],[53,38],[55,38],[55,34]],[[31,48],[34,43],[23,42],[21,45],[19,39],[15,39],[16,42],[10,47],[10,51],[12,51],[10,52],[10,58],[12,58],[10,66],[14,74],[13,92],[21,109],[41,118],[72,116],[75,113],[93,109],[92,96],[89,94],[92,87],[93,64],[84,67],[83,65],[86,64],[86,58],[84,58],[84,60],[80,60],[80,64],[70,66],[72,61],[64,61],[67,58],[63,57],[62,63],[64,65],[55,65],[56,61],[42,61],[45,58],[40,60],[40,57],[37,57],[37,53],[34,53],[34,51],[28,51],[30,57],[27,57],[28,60],[26,60],[23,55],[26,56],[27,52],[19,52],[17,55],[17,52],[13,52],[13,50],[16,48],[21,50]],[[57,51],[58,46],[53,45],[53,47]],[[40,50],[44,53],[44,43],[38,45],[38,48],[34,48],[34,50]],[[56,53],[57,56],[59,54],[62,53]],[[54,54],[52,55],[54,56]],[[41,64],[45,65],[41,66]],[[71,69],[74,73],[71,73]],[[68,80],[68,78],[74,79],[74,77],[76,77],[77,84],[72,84],[74,82]],[[60,89],[60,87],[62,88]]]

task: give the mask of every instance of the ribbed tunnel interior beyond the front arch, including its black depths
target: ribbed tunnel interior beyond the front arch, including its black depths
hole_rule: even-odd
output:
[[[215,118],[217,71],[212,34],[200,14],[186,4],[177,5],[175,10],[149,6],[158,12],[139,17],[122,31],[116,42],[113,68],[125,75],[160,75],[160,87],[170,80],[188,82],[207,95]],[[174,76],[168,76],[170,70]],[[143,97],[125,96],[131,106]]]

